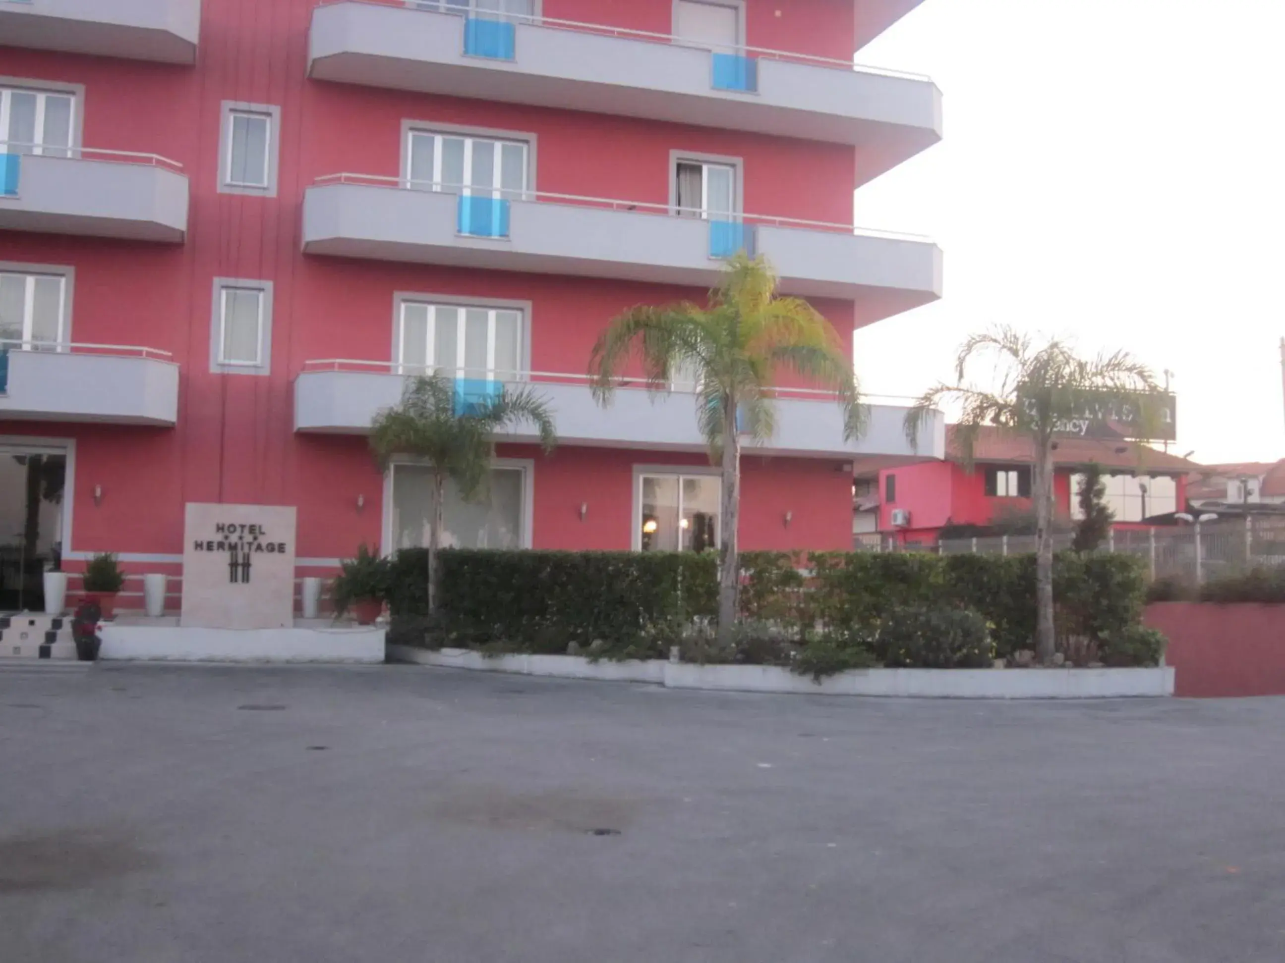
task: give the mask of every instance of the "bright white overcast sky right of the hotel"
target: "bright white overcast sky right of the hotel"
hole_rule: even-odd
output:
[[[856,195],[946,252],[941,302],[857,334],[864,389],[917,394],[1013,324],[1172,370],[1180,455],[1285,456],[1282,41],[1285,0],[925,0],[862,50],[946,116]]]

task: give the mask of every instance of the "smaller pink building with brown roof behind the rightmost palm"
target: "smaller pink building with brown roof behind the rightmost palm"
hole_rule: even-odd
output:
[[[1033,448],[1029,439],[982,429],[973,470],[964,466],[953,425],[946,430],[946,460],[902,465],[878,473],[878,530],[903,544],[935,544],[943,529],[988,526],[1031,514]],[[1106,475],[1106,502],[1117,528],[1186,508],[1187,475],[1199,469],[1176,455],[1136,442],[1070,438],[1054,452],[1055,512],[1082,517],[1079,484],[1090,464]]]

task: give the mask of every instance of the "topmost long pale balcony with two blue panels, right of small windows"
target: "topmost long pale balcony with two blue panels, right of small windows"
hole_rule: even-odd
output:
[[[487,27],[502,37],[479,40],[459,14],[326,4],[312,12],[308,71],[344,83],[851,144],[860,182],[942,137],[942,95],[928,77],[779,50],[711,50],[547,17],[513,19]]]

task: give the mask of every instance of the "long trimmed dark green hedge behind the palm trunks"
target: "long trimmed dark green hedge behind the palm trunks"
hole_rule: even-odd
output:
[[[400,639],[400,625],[424,624],[427,573],[423,550],[393,564]],[[1033,647],[1034,588],[1029,555],[749,552],[741,614],[802,641],[816,625],[873,632],[905,609],[971,610],[988,624],[996,655],[1007,657]],[[565,652],[574,642],[616,657],[662,656],[694,619],[713,618],[717,589],[713,553],[446,550],[439,620],[429,630],[439,645]],[[1145,591],[1132,556],[1059,553],[1059,634],[1121,637],[1140,623]]]

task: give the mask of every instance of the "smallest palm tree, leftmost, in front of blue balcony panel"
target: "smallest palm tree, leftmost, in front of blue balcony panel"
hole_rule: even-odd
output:
[[[387,471],[398,456],[411,456],[427,461],[433,473],[429,612],[437,611],[437,556],[442,547],[446,480],[455,483],[465,501],[484,498],[495,456],[492,438],[502,429],[533,425],[546,455],[558,444],[553,415],[529,386],[511,390],[499,385],[495,393],[470,397],[461,390],[466,384],[439,372],[416,377],[406,384],[401,403],[380,411],[370,426],[370,448],[382,470]]]

